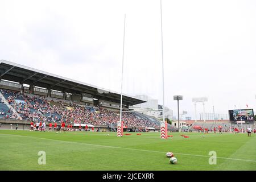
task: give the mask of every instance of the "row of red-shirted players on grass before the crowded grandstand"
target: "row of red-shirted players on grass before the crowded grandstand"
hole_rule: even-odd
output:
[[[67,129],[65,129],[65,122],[61,122],[60,131],[76,131],[76,129],[73,129],[73,125],[71,123],[68,124]],[[38,122],[31,122],[30,123],[31,131],[46,131],[46,122],[38,121]],[[52,123],[49,123],[48,131],[57,131],[57,123],[55,122],[52,128]],[[86,125],[84,129],[82,128],[81,124],[79,125],[78,131],[88,131],[88,126]],[[92,127],[92,131],[94,131],[94,127]]]

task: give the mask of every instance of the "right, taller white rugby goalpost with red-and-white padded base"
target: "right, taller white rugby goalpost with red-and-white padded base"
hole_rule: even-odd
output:
[[[167,128],[164,118],[164,61],[163,61],[163,22],[162,22],[162,0],[160,0],[160,15],[161,15],[161,45],[162,45],[162,80],[163,80],[163,121],[160,122],[160,138],[167,139]]]

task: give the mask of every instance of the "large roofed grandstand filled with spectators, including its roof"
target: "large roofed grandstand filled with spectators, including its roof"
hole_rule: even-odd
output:
[[[0,119],[2,127],[20,123],[29,128],[31,121],[61,122],[116,131],[121,94],[84,82],[53,75],[38,69],[0,61]],[[122,110],[144,100],[123,94]],[[135,111],[122,113],[125,131],[160,129],[160,121]],[[176,127],[168,125],[169,130]]]

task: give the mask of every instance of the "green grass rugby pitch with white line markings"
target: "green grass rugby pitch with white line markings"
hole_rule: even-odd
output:
[[[0,130],[0,170],[256,170],[255,134],[131,134]],[[38,164],[39,151],[46,165]],[[168,151],[177,164],[168,163]],[[209,151],[217,152],[216,165]]]

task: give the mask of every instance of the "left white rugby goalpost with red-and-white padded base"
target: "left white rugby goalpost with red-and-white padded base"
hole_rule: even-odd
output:
[[[126,18],[126,14],[125,14]],[[123,56],[125,54],[125,22],[123,24]],[[120,120],[117,123],[117,137],[122,137],[122,101],[123,101],[123,57],[122,57],[122,78],[121,78],[121,101],[120,101]]]

